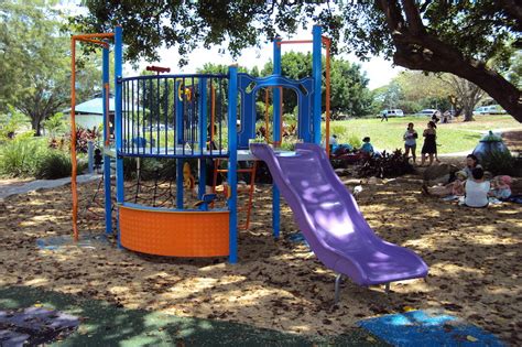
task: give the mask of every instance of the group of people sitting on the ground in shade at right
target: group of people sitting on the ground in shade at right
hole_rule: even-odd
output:
[[[449,183],[433,187],[423,185],[422,191],[426,195],[458,198],[461,205],[469,207],[487,207],[491,198],[499,200],[509,198],[511,183],[512,178],[507,175],[487,180],[477,156],[469,154],[466,158],[466,166],[456,172]]]

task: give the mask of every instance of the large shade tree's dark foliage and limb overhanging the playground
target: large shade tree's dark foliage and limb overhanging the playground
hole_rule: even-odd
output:
[[[515,0],[416,1],[180,1],[86,0],[75,21],[85,31],[124,28],[127,58],[156,59],[161,45],[182,55],[198,44],[225,44],[232,54],[312,21],[333,36],[335,50],[366,58],[382,54],[396,65],[446,72],[487,91],[522,121],[521,90],[502,76],[522,45],[522,6]],[[494,61],[492,68],[491,61]],[[182,64],[186,63],[182,59]]]

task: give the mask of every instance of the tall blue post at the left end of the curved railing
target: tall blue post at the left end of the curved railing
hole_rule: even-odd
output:
[[[121,26],[116,26],[115,34],[115,137],[116,137],[116,202],[122,204],[124,202],[124,189],[123,189],[123,158],[118,154],[122,150],[122,129],[121,129],[121,77],[122,77],[122,63],[123,63],[123,42],[122,42],[122,30]],[[118,247],[121,247],[121,229],[118,218]]]

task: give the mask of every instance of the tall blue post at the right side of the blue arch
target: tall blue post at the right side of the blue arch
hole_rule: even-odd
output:
[[[314,111],[312,112],[313,117],[313,130],[314,130],[314,143],[320,144],[320,85],[322,85],[322,31],[319,25],[314,25],[312,31],[314,36],[313,41],[313,52],[312,52],[312,77],[314,78]]]

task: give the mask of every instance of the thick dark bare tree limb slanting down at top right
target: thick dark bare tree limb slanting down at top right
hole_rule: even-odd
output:
[[[522,122],[521,90],[497,72],[489,69],[486,64],[467,58],[457,47],[442,42],[435,35],[418,29],[411,31],[409,28],[412,23],[404,21],[396,0],[381,0],[379,3],[387,17],[388,28],[396,47],[393,55],[396,65],[425,72],[452,73],[472,82],[514,119]],[[405,9],[413,11],[411,7]],[[414,24],[418,25],[418,22]]]

